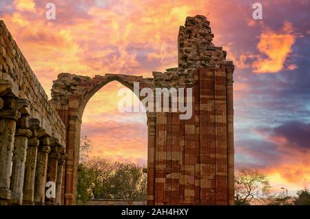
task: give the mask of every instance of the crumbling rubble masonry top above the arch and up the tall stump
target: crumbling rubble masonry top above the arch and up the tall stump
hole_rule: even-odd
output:
[[[222,47],[215,47],[211,42],[214,34],[209,24],[206,17],[202,15],[187,17],[185,26],[180,27],[178,34],[178,67],[167,69],[163,73],[154,71],[154,78],[120,74],[105,74],[105,76],[90,78],[61,73],[57,80],[54,80],[52,100],[65,100],[70,97],[81,100],[112,80],[118,80],[127,87],[132,87],[134,82],[140,82],[140,89],[193,87],[194,71],[199,67],[225,69],[226,65],[232,65],[225,60],[226,51],[223,51]]]

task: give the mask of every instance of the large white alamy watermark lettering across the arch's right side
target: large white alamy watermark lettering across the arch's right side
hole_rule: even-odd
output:
[[[120,112],[171,112],[183,113],[180,119],[190,119],[193,113],[192,88],[143,88],[140,91],[138,82],[134,82],[134,95],[140,100],[132,98],[132,92],[126,88],[118,91],[123,98],[118,102]],[[186,91],[186,95],[185,95]],[[133,104],[132,104],[133,103]],[[132,107],[133,106],[133,107]]]

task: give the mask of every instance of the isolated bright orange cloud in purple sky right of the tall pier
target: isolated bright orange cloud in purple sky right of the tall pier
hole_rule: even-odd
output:
[[[267,30],[265,33],[260,34],[260,42],[257,48],[268,58],[259,58],[254,62],[254,72],[276,73],[284,69],[285,60],[291,53],[291,46],[294,43],[293,27],[288,22],[282,27],[281,33]]]

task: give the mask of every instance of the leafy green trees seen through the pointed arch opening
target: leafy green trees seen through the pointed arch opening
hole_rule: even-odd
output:
[[[111,163],[94,158],[79,164],[78,200],[88,198],[147,199],[147,176],[143,167],[134,163]]]

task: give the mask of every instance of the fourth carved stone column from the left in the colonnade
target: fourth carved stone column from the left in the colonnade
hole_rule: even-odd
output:
[[[40,128],[40,130],[42,130]],[[34,183],[34,204],[44,205],[46,173],[48,172],[48,154],[50,153],[50,137],[40,138],[37,158],[36,178]]]

